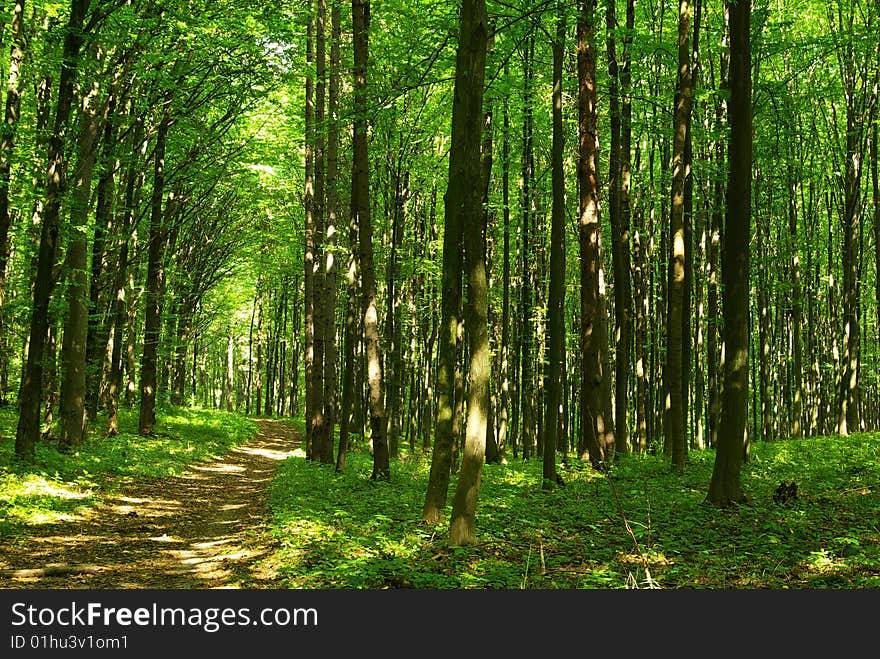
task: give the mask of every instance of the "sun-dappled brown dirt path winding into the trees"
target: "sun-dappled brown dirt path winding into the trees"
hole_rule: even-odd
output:
[[[273,588],[256,562],[273,547],[266,488],[299,445],[271,419],[185,474],[138,480],[74,521],[35,526],[0,549],[0,588]]]

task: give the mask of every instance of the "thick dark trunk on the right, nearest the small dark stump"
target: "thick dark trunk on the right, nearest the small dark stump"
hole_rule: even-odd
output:
[[[724,298],[724,388],[708,500],[728,506],[745,499],[740,482],[748,432],[749,234],[752,181],[751,9],[730,5],[730,171],[721,249]]]

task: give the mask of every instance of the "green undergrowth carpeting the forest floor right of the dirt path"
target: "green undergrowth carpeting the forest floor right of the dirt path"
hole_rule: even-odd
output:
[[[618,589],[880,587],[880,434],[752,447],[749,502],[705,502],[714,452],[683,474],[660,457],[625,456],[607,475],[560,465],[544,492],[540,461],[486,465],[478,544],[454,548],[447,525],[421,523],[430,460],[392,463],[372,482],[366,451],[346,470],[287,460],[270,489],[280,549],[269,559],[290,588]],[[797,498],[773,493],[794,480]]]

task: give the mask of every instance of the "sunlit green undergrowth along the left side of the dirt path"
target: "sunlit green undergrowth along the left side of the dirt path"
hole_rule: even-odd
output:
[[[17,411],[0,409],[0,537],[24,526],[71,519],[126,479],[180,474],[256,431],[253,421],[213,410],[160,409],[151,437],[138,436],[137,420],[137,410],[120,410],[120,433],[106,438],[106,419],[99,417],[88,439],[72,452],[41,440],[34,463],[23,464],[14,458]]]

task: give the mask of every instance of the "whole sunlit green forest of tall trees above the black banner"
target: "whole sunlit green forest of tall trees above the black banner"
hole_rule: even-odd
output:
[[[4,587],[880,586],[878,0],[0,21]]]

